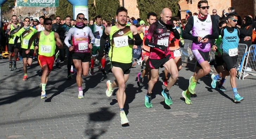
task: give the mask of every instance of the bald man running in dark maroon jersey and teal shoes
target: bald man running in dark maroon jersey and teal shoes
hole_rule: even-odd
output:
[[[164,66],[168,72],[172,74],[172,77],[169,78],[167,87],[161,92],[162,96],[165,98],[166,105],[172,104],[169,90],[178,78],[176,63],[171,57],[171,52],[167,47],[169,45],[170,32],[173,32],[177,39],[180,38],[180,35],[171,20],[172,11],[169,8],[164,8],[160,15],[161,18],[149,27],[148,34],[145,39],[145,45],[151,47],[149,55],[151,79],[148,82],[148,92],[145,96],[146,107],[152,107],[151,94],[154,84],[158,81],[158,71],[160,66]]]

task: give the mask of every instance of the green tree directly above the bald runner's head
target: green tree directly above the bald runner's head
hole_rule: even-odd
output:
[[[140,11],[140,18],[146,21],[149,12],[155,12],[160,18],[160,13],[165,7],[172,10],[172,16],[177,15],[179,10],[178,3],[179,0],[137,0],[137,7]]]

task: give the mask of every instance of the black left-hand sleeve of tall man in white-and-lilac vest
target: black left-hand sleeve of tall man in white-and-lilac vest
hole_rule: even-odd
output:
[[[185,26],[185,29],[183,31],[182,37],[184,39],[188,39],[188,40],[192,40],[192,41],[197,41],[198,36],[193,36],[190,34],[190,31],[192,30],[194,25],[194,19],[193,18],[189,18],[187,21],[187,24]]]

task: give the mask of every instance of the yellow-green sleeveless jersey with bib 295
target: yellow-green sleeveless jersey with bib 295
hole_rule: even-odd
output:
[[[119,29],[116,26],[111,26],[109,38],[112,47],[110,48],[108,54],[110,61],[121,63],[132,62],[133,45],[128,44],[128,36],[133,38],[129,24],[126,24],[126,27],[123,29]]]

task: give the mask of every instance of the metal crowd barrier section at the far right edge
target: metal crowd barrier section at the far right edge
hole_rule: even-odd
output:
[[[247,52],[245,66],[242,69],[244,71],[243,78],[247,75],[256,76],[256,45],[251,45]]]

